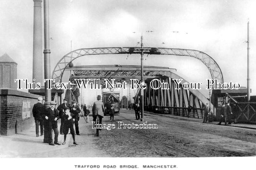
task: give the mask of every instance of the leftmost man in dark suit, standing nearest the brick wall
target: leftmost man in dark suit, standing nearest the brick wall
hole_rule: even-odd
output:
[[[42,118],[42,114],[45,112],[45,106],[42,103],[43,98],[38,97],[38,102],[34,104],[34,107],[32,109],[33,116],[35,118],[36,123],[36,135],[39,136],[39,125],[40,125],[40,133],[41,136],[44,135],[44,121]]]

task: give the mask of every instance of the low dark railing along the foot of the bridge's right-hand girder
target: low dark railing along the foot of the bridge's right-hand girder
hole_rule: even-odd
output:
[[[202,119],[204,115],[204,109],[192,108],[191,112],[188,113],[188,108],[186,107],[169,107],[169,106],[144,106],[145,111],[161,113],[161,114],[172,114],[183,117],[191,117]]]

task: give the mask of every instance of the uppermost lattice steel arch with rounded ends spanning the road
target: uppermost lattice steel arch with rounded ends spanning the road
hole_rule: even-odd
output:
[[[102,47],[102,48],[82,48],[74,50],[63,56],[56,64],[52,79],[55,82],[61,82],[63,72],[74,59],[89,55],[106,55],[106,54],[140,54],[143,50],[144,54],[149,55],[172,55],[194,57],[200,60],[209,70],[212,79],[217,79],[223,83],[223,75],[217,62],[204,52],[190,49],[178,48],[156,48],[156,47]]]

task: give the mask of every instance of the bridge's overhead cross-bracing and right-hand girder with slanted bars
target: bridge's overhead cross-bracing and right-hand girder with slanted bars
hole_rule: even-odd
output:
[[[74,82],[74,79],[116,79],[116,81],[122,81],[140,79],[140,74],[138,74],[140,73],[139,68],[140,66],[105,65],[81,66],[67,68],[67,70],[73,70],[74,74],[70,78],[72,82]],[[200,91],[183,89],[182,84],[188,83],[188,81],[173,73],[172,71],[173,69],[170,68],[145,66],[145,105],[184,108],[187,108],[188,105],[191,105],[194,108],[202,108],[206,105],[206,103],[209,102],[207,97],[205,97]],[[167,82],[169,89],[151,89],[149,83],[152,79],[159,79],[161,82]],[[183,81],[180,83],[180,90],[175,89],[176,85],[172,79],[183,79]],[[129,82],[127,81],[127,83]],[[211,108],[213,108],[212,104]]]

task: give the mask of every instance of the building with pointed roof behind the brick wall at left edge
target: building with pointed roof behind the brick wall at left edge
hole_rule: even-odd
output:
[[[17,63],[7,54],[0,57],[0,88],[17,89]]]

